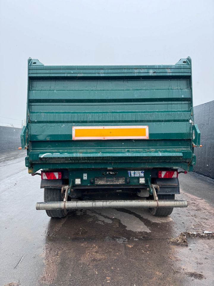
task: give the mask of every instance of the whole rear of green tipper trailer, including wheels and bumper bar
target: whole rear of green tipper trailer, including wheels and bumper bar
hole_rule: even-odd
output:
[[[187,207],[180,172],[193,170],[191,58],[175,65],[45,66],[28,60],[26,167],[41,175],[37,210]],[[39,186],[38,186],[39,188]]]

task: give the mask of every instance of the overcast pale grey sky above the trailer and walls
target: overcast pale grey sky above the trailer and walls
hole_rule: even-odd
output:
[[[26,116],[28,57],[45,65],[140,65],[191,56],[193,103],[213,100],[213,28],[213,0],[1,0],[0,116]]]

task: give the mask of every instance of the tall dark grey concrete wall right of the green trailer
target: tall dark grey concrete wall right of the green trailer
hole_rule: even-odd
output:
[[[214,179],[214,100],[194,107],[194,123],[198,124],[203,147],[194,148],[193,171]]]

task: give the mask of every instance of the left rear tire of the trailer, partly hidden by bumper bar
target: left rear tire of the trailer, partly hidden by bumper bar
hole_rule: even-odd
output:
[[[63,201],[64,196],[62,195],[61,189],[55,188],[45,188],[44,189],[44,201],[45,202],[60,202]],[[54,210],[46,210],[46,214],[49,217],[66,217],[67,210],[64,209],[54,209]]]

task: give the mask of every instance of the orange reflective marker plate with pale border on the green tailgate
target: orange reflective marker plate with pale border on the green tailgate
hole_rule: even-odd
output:
[[[73,126],[73,140],[149,139],[148,125]]]

